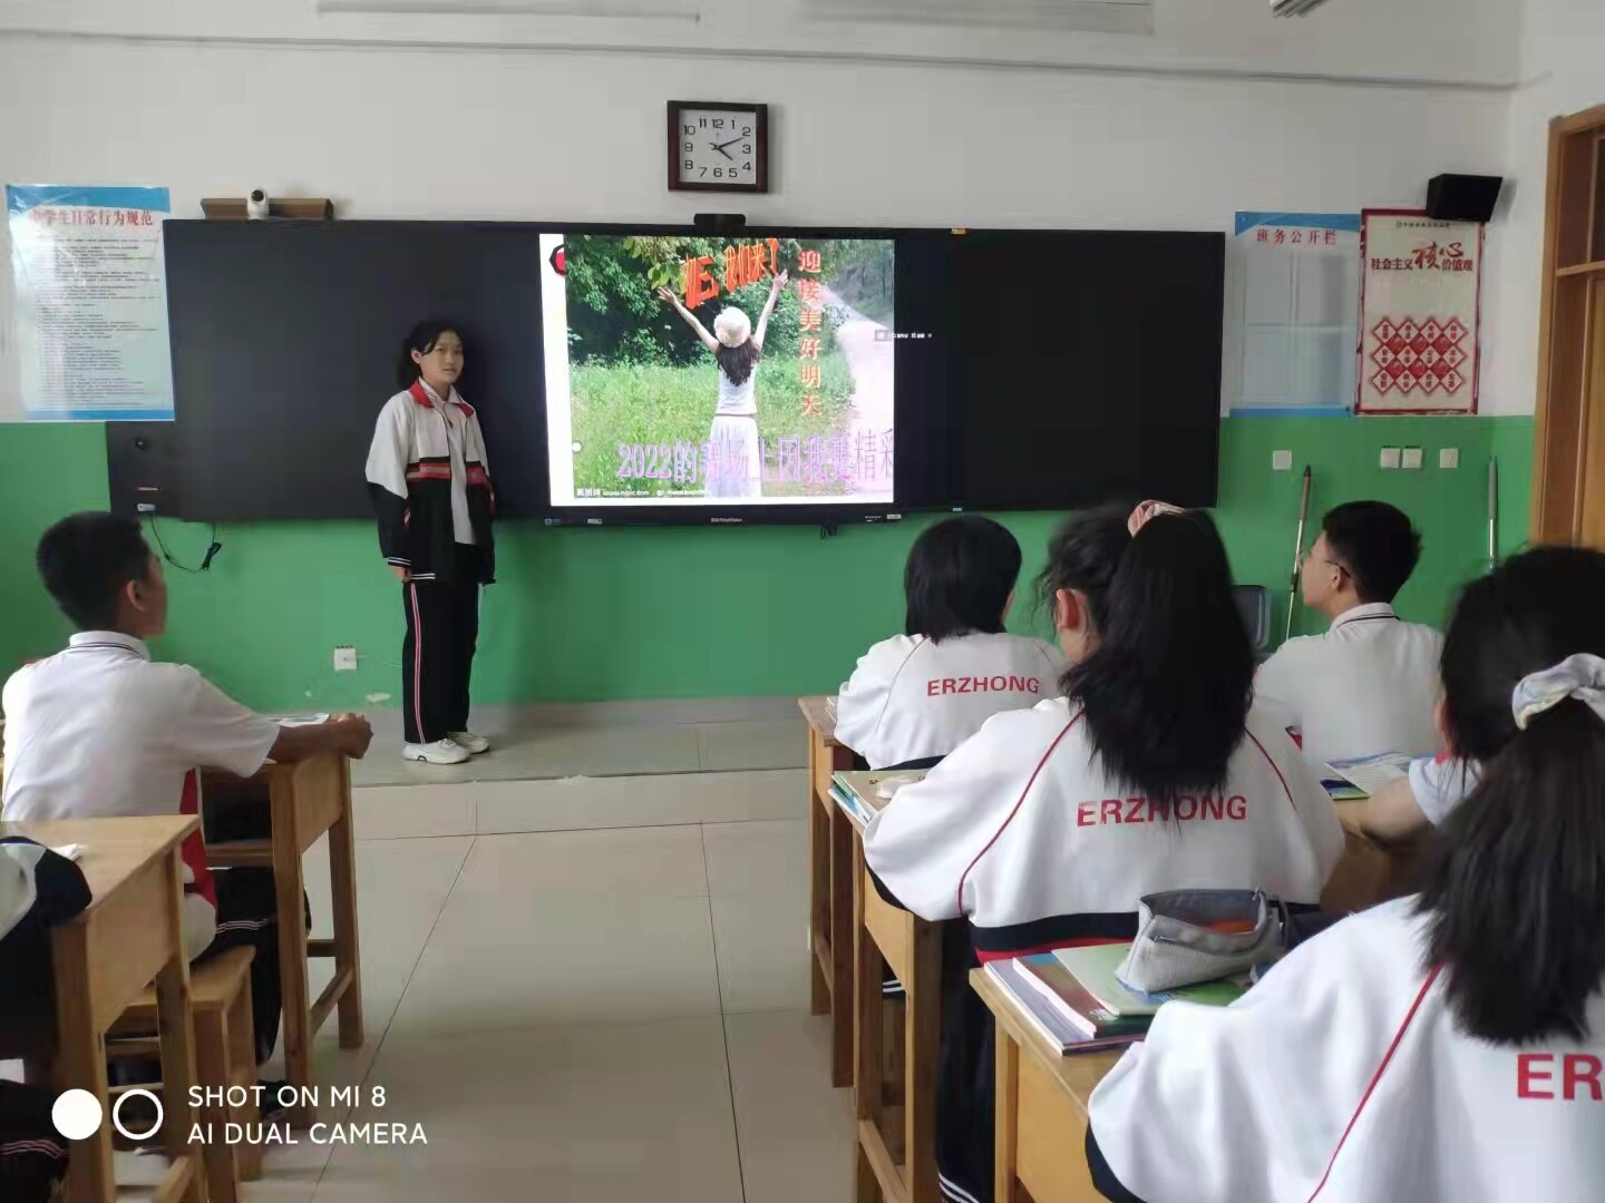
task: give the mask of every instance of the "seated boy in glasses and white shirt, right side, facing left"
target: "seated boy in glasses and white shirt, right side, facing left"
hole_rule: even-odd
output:
[[[1254,696],[1300,731],[1311,764],[1438,751],[1443,638],[1392,606],[1419,558],[1420,536],[1387,502],[1348,502],[1321,520],[1300,579],[1305,605],[1332,627],[1287,640],[1254,682]]]

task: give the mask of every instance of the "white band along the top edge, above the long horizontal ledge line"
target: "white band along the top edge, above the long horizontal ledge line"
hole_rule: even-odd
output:
[[[855,3],[875,11],[884,2],[831,0],[830,8]],[[971,0],[977,13],[998,6],[1000,0]],[[1019,0],[1011,6],[1030,8]],[[1475,83],[1517,77],[1518,0],[1327,0],[1311,14],[1289,19],[1273,19],[1270,0],[1148,0],[1146,6],[1152,10],[1152,37],[989,22],[831,21],[820,16],[820,0],[6,0],[0,29],[985,59]],[[531,14],[542,11],[603,16]]]

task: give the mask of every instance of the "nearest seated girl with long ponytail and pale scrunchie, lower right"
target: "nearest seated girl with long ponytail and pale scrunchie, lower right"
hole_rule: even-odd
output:
[[[1584,1203],[1605,1184],[1605,555],[1464,590],[1444,738],[1483,767],[1424,892],[1236,1006],[1162,1007],[1091,1097],[1093,1181],[1148,1203]]]

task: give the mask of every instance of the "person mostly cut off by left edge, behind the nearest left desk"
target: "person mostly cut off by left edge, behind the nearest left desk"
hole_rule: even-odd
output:
[[[50,929],[90,905],[77,865],[29,839],[0,839],[0,1031],[51,1031]],[[26,1039],[24,1039],[26,1044]],[[67,1173],[69,1144],[51,1123],[55,1094],[0,1081],[0,1198],[45,1203]]]

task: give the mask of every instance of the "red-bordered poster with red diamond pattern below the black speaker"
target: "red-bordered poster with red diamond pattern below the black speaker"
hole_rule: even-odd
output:
[[[1483,228],[1361,215],[1361,414],[1475,414]]]

